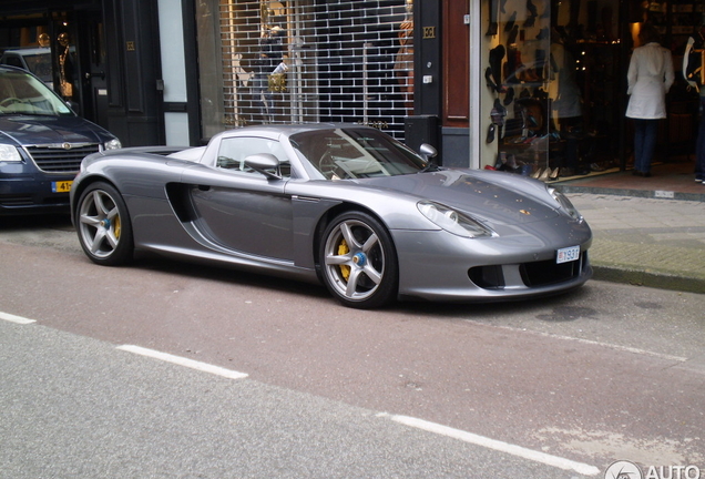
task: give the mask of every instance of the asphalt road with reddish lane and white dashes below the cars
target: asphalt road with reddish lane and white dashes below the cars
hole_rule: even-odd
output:
[[[4,218],[0,272],[0,313],[37,320],[0,322],[0,477],[705,470],[703,295],[590,282],[535,302],[359,312],[238,272],[99,267],[65,221]]]

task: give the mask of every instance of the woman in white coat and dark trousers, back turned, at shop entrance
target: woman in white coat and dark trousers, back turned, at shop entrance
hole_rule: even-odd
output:
[[[674,80],[673,59],[671,50],[658,44],[658,32],[652,24],[642,27],[638,40],[641,47],[634,49],[626,75],[626,116],[634,120],[634,174],[651,176],[658,120],[666,118],[666,93]]]

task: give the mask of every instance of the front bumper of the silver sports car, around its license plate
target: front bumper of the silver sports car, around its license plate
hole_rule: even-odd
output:
[[[562,241],[535,235],[469,240],[442,231],[396,231],[394,237],[400,299],[525,299],[570,291],[592,277],[592,234],[586,224]],[[580,246],[580,258],[556,264],[558,249],[568,246]]]

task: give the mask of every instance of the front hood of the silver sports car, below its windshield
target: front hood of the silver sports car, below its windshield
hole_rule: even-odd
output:
[[[382,187],[430,200],[491,223],[518,224],[558,216],[558,204],[545,185],[510,173],[441,170],[401,176],[360,180],[360,184]],[[538,198],[545,194],[545,202]]]

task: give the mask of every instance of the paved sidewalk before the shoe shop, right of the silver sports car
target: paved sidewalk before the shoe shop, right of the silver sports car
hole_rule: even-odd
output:
[[[705,294],[705,185],[692,173],[623,172],[554,185],[592,227],[595,279]]]

